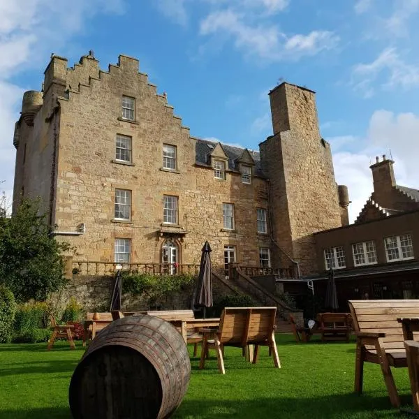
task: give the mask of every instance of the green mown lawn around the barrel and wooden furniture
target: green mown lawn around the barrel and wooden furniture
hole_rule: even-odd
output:
[[[362,396],[353,394],[355,344],[295,344],[277,335],[281,369],[274,369],[267,348],[251,365],[241,350],[226,348],[226,375],[216,358],[205,370],[191,360],[189,390],[174,418],[400,418],[387,397],[378,365],[366,364]],[[78,342],[0,345],[0,418],[71,418],[68,384],[82,356]],[[411,405],[406,369],[393,370],[402,403]],[[94,418],[92,418],[94,419]]]

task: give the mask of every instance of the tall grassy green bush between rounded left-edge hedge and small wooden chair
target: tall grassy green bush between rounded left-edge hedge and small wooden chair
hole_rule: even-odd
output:
[[[29,301],[17,307],[15,315],[15,337],[19,341],[22,337],[32,336],[36,329],[47,328],[50,307],[46,302]]]

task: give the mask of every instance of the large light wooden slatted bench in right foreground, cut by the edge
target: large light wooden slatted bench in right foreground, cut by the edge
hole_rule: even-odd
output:
[[[355,392],[362,393],[364,362],[381,366],[393,406],[400,399],[390,367],[407,367],[401,317],[418,317],[419,300],[349,301],[356,333]],[[417,334],[416,334],[417,337]]]

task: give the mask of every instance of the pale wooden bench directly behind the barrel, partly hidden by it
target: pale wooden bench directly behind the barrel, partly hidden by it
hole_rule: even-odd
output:
[[[146,311],[146,314],[170,321],[184,337],[186,344],[193,344],[193,356],[196,356],[198,344],[203,341],[203,335],[199,333],[199,328],[196,328],[193,324],[188,325],[188,321],[195,320],[193,310]]]

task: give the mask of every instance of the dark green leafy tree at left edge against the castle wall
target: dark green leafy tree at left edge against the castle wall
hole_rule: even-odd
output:
[[[68,243],[50,234],[46,215],[39,215],[40,200],[22,199],[15,214],[0,212],[0,284],[16,300],[45,300],[65,284],[62,253]]]

